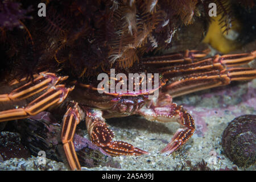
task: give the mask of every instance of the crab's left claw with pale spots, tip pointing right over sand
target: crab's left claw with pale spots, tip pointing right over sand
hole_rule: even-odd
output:
[[[105,119],[102,117],[101,110],[86,109],[86,127],[92,142],[98,147],[101,147],[109,155],[148,154],[148,152],[136,148],[129,143],[113,141],[114,133],[108,129]]]

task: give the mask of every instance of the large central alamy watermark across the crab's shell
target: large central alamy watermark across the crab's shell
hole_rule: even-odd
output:
[[[110,69],[110,77],[106,73],[100,73],[97,80],[98,93],[117,93],[117,94],[143,94],[152,92],[148,99],[158,97],[159,73],[129,73],[128,78],[125,73],[115,75],[115,69]],[[154,83],[154,85],[153,85]]]

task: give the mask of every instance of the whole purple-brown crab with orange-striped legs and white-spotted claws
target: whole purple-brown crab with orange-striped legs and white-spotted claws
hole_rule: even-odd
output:
[[[147,68],[154,68],[154,72],[161,73],[158,86],[146,91],[139,89],[122,93],[99,93],[101,88],[97,87],[97,81],[68,81],[68,76],[51,72],[35,74],[31,81],[27,78],[13,80],[7,85],[2,85],[1,90],[4,91],[10,90],[12,86],[16,88],[0,94],[0,104],[4,108],[0,111],[0,122],[29,118],[44,110],[66,104],[61,140],[65,156],[73,170],[81,169],[73,144],[76,127],[81,121],[86,123],[90,140],[112,156],[143,155],[148,152],[132,144],[114,140],[114,133],[109,129],[105,119],[138,114],[149,121],[176,121],[181,127],[161,151],[172,154],[183,146],[195,131],[195,122],[191,114],[183,106],[172,102],[172,98],[227,85],[230,81],[256,78],[256,69],[240,67],[254,60],[256,51],[205,58],[208,52],[187,50],[171,55],[143,58],[142,65],[139,66],[142,72],[148,73]],[[130,70],[126,70],[126,73],[129,72]],[[115,79],[114,82],[117,85],[122,79]],[[142,81],[139,84],[141,85]],[[156,90],[159,91],[158,97],[149,99]],[[10,108],[11,106],[15,108]]]

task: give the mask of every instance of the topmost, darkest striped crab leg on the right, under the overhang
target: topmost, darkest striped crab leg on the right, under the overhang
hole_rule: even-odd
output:
[[[152,67],[167,67],[174,64],[188,64],[197,61],[208,55],[209,49],[204,51],[186,50],[180,53],[172,53],[163,56],[152,56],[143,58],[142,64]]]

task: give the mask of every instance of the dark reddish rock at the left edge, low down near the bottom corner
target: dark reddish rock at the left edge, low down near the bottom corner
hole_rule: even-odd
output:
[[[18,133],[9,131],[0,133],[0,161],[11,158],[27,159],[30,156],[28,149],[20,143],[20,135]]]

